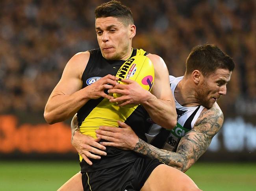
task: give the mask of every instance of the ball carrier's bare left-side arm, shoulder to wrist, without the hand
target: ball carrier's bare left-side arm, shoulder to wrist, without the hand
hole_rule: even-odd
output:
[[[84,96],[84,89],[81,89],[82,72],[88,60],[89,52],[76,54],[65,66],[61,79],[45,106],[44,116],[49,124],[69,118],[88,101]]]

